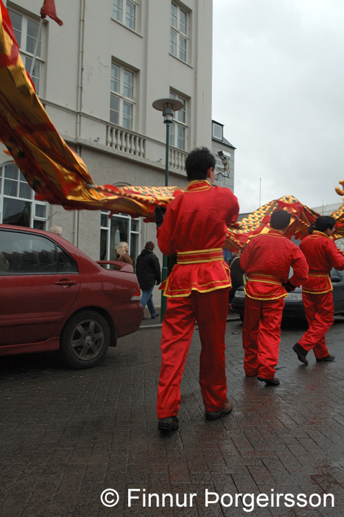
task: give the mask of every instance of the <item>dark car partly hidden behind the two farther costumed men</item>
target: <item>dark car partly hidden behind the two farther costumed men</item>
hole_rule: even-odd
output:
[[[332,268],[331,280],[333,285],[333,301],[334,314],[344,316],[344,271],[337,271]],[[305,322],[305,311],[302,302],[302,288],[296,287],[293,292],[290,292],[285,298],[285,306],[283,309],[283,320]],[[236,290],[234,299],[232,301],[233,308],[241,321],[243,321],[244,307],[245,307],[245,291],[243,285]]]

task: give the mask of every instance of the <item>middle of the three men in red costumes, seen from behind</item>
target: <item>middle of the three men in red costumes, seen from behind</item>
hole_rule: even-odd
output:
[[[278,386],[274,367],[279,361],[279,343],[284,297],[307,278],[305,256],[283,234],[290,214],[274,210],[267,234],[252,237],[241,252],[240,266],[248,276],[245,285],[243,321],[244,370],[247,377]],[[288,280],[290,266],[293,275]],[[283,287],[283,285],[285,287]]]

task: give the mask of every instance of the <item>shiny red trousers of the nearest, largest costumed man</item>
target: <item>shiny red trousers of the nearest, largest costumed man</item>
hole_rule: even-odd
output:
[[[205,411],[222,409],[227,400],[225,327],[228,288],[168,298],[161,338],[161,372],[156,402],[158,418],[176,416],[181,404],[181,377],[194,325],[199,325],[199,384]]]

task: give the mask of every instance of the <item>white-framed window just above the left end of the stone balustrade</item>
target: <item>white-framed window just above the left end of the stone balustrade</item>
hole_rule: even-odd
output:
[[[134,117],[134,79],[134,72],[112,63],[110,122],[129,130]]]

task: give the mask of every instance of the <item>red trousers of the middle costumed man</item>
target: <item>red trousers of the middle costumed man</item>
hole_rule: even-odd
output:
[[[245,296],[243,349],[245,374],[274,378],[279,362],[279,343],[284,298],[256,300]]]

